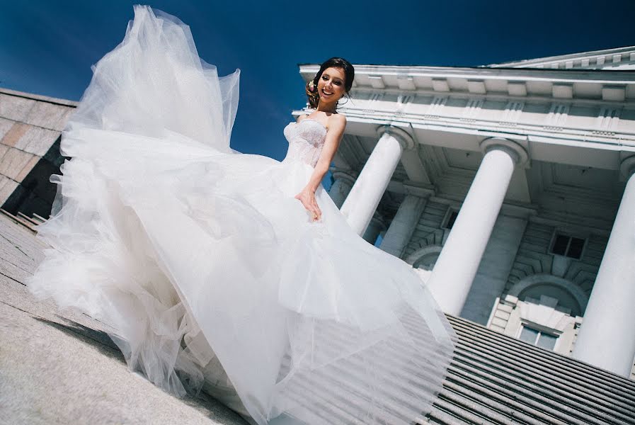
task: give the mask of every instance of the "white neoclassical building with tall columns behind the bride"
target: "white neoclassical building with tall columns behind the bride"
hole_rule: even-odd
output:
[[[318,69],[299,66],[305,81]],[[446,313],[631,375],[635,47],[357,64],[341,111],[330,193],[360,235]]]

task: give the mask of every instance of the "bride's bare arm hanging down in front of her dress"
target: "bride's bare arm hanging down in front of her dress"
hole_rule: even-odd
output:
[[[311,178],[307,186],[304,186],[304,189],[295,196],[296,199],[302,202],[304,208],[312,212],[313,220],[316,221],[321,219],[322,211],[315,200],[315,191],[320,186],[322,179],[324,179],[324,175],[328,171],[328,167],[331,166],[331,161],[333,161],[333,157],[338,150],[346,128],[346,117],[341,114],[331,115],[328,124],[324,147],[322,147],[320,158],[315,165]]]

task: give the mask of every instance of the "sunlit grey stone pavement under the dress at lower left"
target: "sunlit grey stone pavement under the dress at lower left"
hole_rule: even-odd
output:
[[[211,397],[178,399],[131,373],[101,322],[35,300],[23,282],[43,247],[0,214],[0,424],[246,424]]]

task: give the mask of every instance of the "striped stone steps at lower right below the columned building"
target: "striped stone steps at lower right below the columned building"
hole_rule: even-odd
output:
[[[635,382],[448,316],[459,336],[420,424],[635,424]]]

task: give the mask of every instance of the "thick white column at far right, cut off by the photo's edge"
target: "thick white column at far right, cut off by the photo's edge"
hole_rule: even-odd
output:
[[[628,378],[635,357],[635,157],[572,356]]]

